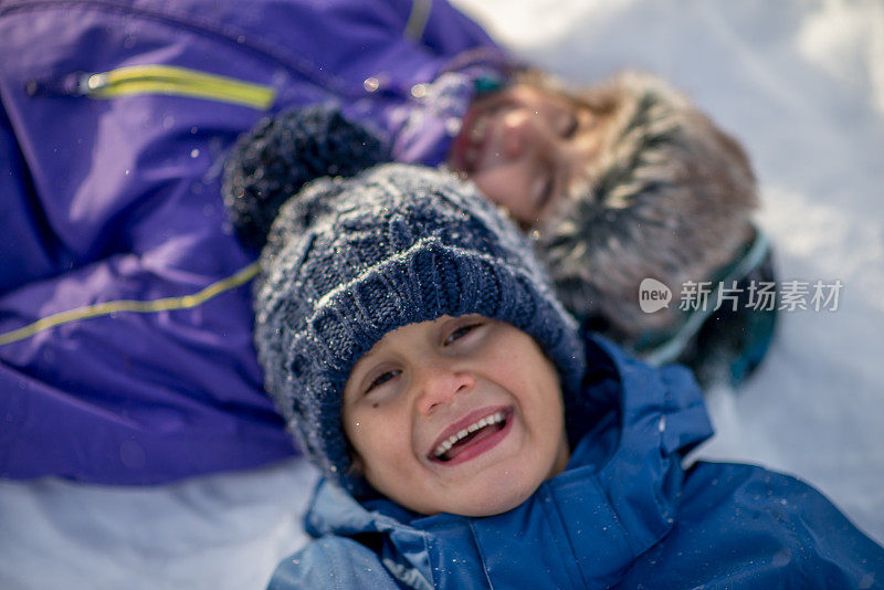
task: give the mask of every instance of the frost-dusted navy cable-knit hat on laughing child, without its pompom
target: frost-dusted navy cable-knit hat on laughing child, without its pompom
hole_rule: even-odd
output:
[[[307,185],[280,210],[255,285],[265,384],[301,447],[357,496],[340,424],[350,370],[385,334],[442,315],[507,322],[558,369],[566,408],[583,349],[530,245],[470,185],[386,165]]]

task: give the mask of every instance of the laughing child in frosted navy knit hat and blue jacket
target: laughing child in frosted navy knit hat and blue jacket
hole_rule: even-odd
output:
[[[685,454],[690,373],[581,335],[449,175],[319,179],[262,253],[266,386],[324,480],[287,588],[871,588],[884,549],[787,475]]]

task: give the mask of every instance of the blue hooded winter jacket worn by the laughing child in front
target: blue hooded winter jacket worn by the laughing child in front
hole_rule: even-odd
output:
[[[682,368],[652,369],[599,341],[565,472],[492,517],[421,516],[361,504],[322,482],[306,516],[316,540],[270,588],[873,588],[884,549],[787,475],[697,462],[712,434]]]

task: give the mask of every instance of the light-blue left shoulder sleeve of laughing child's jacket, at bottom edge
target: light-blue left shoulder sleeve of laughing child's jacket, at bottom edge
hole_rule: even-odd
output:
[[[276,567],[267,590],[400,588],[378,557],[344,537],[323,537]]]

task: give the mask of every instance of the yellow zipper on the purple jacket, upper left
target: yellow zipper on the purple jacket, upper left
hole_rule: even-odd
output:
[[[272,86],[171,65],[131,65],[94,74],[76,73],[61,84],[33,81],[28,92],[91,98],[165,94],[233,103],[259,110],[270,108],[276,98]]]

